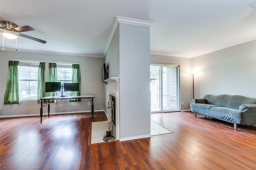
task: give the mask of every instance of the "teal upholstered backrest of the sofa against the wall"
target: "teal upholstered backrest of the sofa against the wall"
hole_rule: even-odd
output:
[[[205,95],[204,98],[207,100],[207,104],[213,104],[221,107],[228,107],[232,109],[239,109],[242,104],[256,104],[256,98],[247,98],[239,95]]]

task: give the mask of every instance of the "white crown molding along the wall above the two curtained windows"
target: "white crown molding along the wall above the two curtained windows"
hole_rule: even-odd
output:
[[[78,57],[97,57],[104,58],[104,55],[95,55],[95,54],[75,54],[75,53],[58,53],[51,51],[33,51],[33,50],[15,50],[15,49],[0,49],[0,51],[14,51],[14,52],[22,52],[22,53],[37,53],[37,54],[49,54],[49,55],[68,55],[68,56],[78,56]]]

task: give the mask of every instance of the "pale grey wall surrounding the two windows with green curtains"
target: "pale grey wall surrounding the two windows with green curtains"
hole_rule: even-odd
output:
[[[21,102],[20,104],[14,105],[4,105],[3,99],[8,78],[9,59],[46,61],[46,69],[48,68],[48,61],[80,63],[81,95],[93,95],[95,97],[94,110],[104,110],[104,83],[102,83],[101,80],[101,67],[104,63],[104,58],[1,51],[0,116],[40,114],[40,104],[38,104],[37,101]],[[46,80],[48,77],[47,73],[48,70],[46,70]],[[51,104],[50,113],[91,111],[91,107],[87,106],[87,102],[89,102],[87,99],[82,99],[82,102],[58,101],[57,104]],[[44,107],[43,111],[44,113],[47,113],[47,107]]]

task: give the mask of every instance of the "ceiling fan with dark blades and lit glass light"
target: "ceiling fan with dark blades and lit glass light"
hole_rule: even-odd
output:
[[[42,39],[38,39],[35,37],[31,37],[25,34],[22,34],[20,32],[25,32],[25,31],[33,31],[34,29],[28,25],[19,27],[17,24],[9,22],[9,21],[0,21],[0,24],[2,27],[0,29],[3,29],[4,31],[1,31],[3,36],[9,39],[16,39],[18,36],[28,38],[34,41],[38,41],[40,43],[46,43],[46,41]]]

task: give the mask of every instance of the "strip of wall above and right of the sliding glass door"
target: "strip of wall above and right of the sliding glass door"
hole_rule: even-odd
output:
[[[150,62],[158,63],[174,63],[180,65],[180,101],[184,105],[180,105],[181,110],[190,109],[190,101],[193,98],[192,94],[192,59],[183,57],[170,57],[162,55],[151,55]]]

